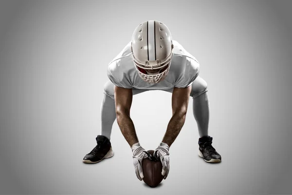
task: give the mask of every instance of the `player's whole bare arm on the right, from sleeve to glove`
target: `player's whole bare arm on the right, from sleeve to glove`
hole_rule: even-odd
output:
[[[172,92],[172,117],[167,125],[167,129],[162,142],[169,147],[179,135],[187,112],[192,86],[186,88],[174,88]]]

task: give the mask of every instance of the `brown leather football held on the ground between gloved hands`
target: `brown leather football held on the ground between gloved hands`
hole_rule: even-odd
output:
[[[148,158],[142,161],[142,169],[144,178],[143,181],[150,187],[156,187],[163,180],[162,163],[157,155],[154,155],[154,150],[148,150]]]

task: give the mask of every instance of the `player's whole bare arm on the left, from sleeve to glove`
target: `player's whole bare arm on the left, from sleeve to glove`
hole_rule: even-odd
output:
[[[132,89],[114,86],[114,97],[117,123],[123,136],[130,147],[132,147],[133,144],[139,142],[133,121],[130,118],[130,108],[133,98]]]

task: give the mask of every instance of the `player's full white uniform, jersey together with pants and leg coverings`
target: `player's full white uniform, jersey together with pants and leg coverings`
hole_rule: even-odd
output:
[[[158,83],[148,83],[139,77],[134,66],[130,50],[131,42],[117,55],[108,66],[108,80],[104,86],[104,99],[101,103],[101,135],[109,137],[114,120],[116,119],[114,85],[124,88],[132,88],[133,96],[150,90],[162,90],[168,93],[173,92],[174,87],[192,86],[190,97],[193,98],[193,113],[197,115],[201,128],[207,124],[204,119],[208,118],[208,112],[202,112],[208,105],[205,94],[207,83],[199,75],[199,63],[190,55],[177,41],[172,40],[174,45],[173,57],[170,63],[170,69],[167,76]],[[199,96],[202,98],[198,98]],[[206,107],[207,108],[207,107]],[[203,115],[203,117],[201,117]],[[200,116],[200,117],[199,117]],[[203,123],[203,124],[201,124]],[[201,132],[205,135],[205,132]]]

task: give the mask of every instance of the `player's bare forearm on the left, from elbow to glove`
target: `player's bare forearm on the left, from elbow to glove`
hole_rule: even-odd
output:
[[[133,144],[139,142],[132,119],[126,113],[117,113],[116,116],[123,136],[132,147]]]

